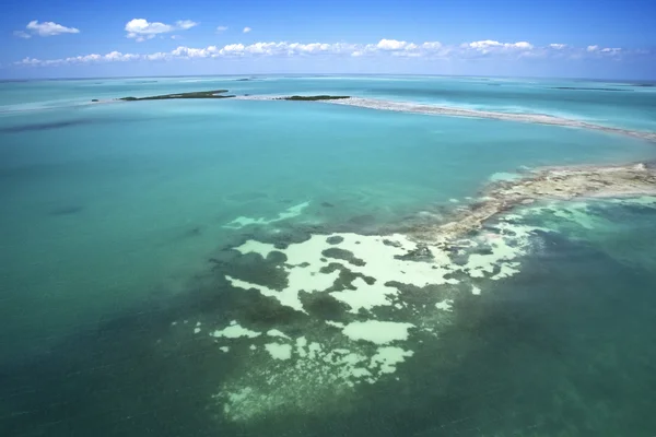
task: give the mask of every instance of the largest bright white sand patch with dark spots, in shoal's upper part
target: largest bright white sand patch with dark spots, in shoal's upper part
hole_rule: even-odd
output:
[[[336,299],[349,305],[350,312],[358,314],[361,310],[368,311],[378,306],[394,305],[399,291],[395,286],[385,285],[390,282],[418,287],[457,284],[458,281],[456,279],[447,279],[446,276],[464,272],[472,277],[485,277],[492,275],[497,267],[502,268],[502,272],[496,274],[495,279],[507,277],[517,272],[517,265],[511,262],[526,251],[532,231],[534,228],[509,223],[500,225],[501,234],[494,235],[494,239],[483,241],[485,245],[491,246],[492,252],[489,255],[473,253],[469,257],[465,265],[453,263],[447,252],[437,245],[426,246],[434,257],[432,260],[418,262],[397,259],[395,257],[407,255],[408,251],[417,248],[417,244],[403,235],[397,234],[382,237],[358,234],[333,234],[331,236],[339,236],[343,239],[337,245],[326,243],[326,239],[330,236],[313,235],[306,241],[293,244],[286,249],[280,250],[288,258],[288,262],[283,269],[288,273],[289,285],[284,290],[276,291],[232,276],[226,276],[226,279],[234,287],[257,290],[263,296],[276,298],[281,305],[306,312],[298,298],[298,294],[301,291],[313,293],[325,291],[332,286],[339,276],[339,271],[320,273],[319,270],[327,262],[339,263],[351,272],[362,273],[365,276],[375,279],[375,283],[370,285],[361,277],[358,277],[351,284],[355,290],[341,290],[331,293]],[[393,241],[399,247],[386,245],[383,243],[384,240]],[[514,246],[511,246],[511,243]],[[479,241],[478,244],[481,243]],[[365,265],[354,265],[348,261],[333,258],[327,258],[327,262],[321,261],[321,258],[325,258],[321,251],[330,248],[348,250],[355,258],[364,260]],[[270,249],[271,246],[247,241],[239,246],[238,250],[242,253],[253,251],[263,255],[268,253]],[[309,265],[300,267],[303,263],[308,263]]]

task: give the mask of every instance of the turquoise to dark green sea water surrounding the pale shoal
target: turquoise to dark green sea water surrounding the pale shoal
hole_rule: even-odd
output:
[[[656,236],[656,212],[649,205],[585,206],[583,215],[598,217],[588,226],[554,218],[563,205],[527,213],[522,223],[552,231],[532,237],[519,272],[435,288],[456,296],[449,319],[431,324],[438,334],[412,336],[411,359],[393,376],[344,389],[348,395],[328,382],[301,392],[300,370],[272,367],[288,378],[279,386],[282,401],[233,399],[241,410],[226,411],[226,387],[244,393],[246,377],[273,365],[248,355],[255,343],[216,343],[204,328],[237,320],[293,339],[315,336],[327,347],[339,339],[317,328],[315,312],[290,316],[226,281],[267,285],[283,268],[273,256],[233,248],[398,231],[469,202],[494,174],[652,161],[653,143],[304,102],[89,104],[214,88],[329,93],[656,130],[653,87],[236,79],[0,84],[3,435],[653,435],[656,252],[644,241]],[[624,91],[557,88],[565,86]],[[462,292],[471,281],[480,296]],[[424,307],[376,315],[419,326],[418,318],[425,324],[438,312]],[[319,309],[321,317],[335,311],[328,304]],[[202,335],[194,335],[195,323]],[[290,388],[290,371],[298,390]]]

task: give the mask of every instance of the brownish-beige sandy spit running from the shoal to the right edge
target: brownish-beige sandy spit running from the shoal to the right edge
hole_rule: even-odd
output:
[[[455,239],[479,229],[497,214],[536,201],[634,196],[656,196],[656,169],[645,164],[541,168],[517,180],[490,185],[480,202],[457,210],[448,223],[424,226],[412,234],[422,240]]]

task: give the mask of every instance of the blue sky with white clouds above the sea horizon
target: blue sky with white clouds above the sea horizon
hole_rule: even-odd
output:
[[[654,0],[0,0],[0,78],[656,80]]]

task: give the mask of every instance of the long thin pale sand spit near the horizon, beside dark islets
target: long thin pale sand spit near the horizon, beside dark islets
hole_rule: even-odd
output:
[[[235,97],[238,99],[250,99],[250,101],[280,101],[285,99],[285,96],[239,96]],[[398,113],[414,113],[414,114],[429,114],[438,116],[449,117],[469,117],[469,118],[490,118],[495,120],[505,121],[520,121],[531,122],[538,125],[552,125],[552,126],[564,126],[570,128],[581,128],[598,130],[607,133],[616,133],[621,135],[628,135],[633,138],[640,138],[647,141],[656,142],[656,132],[630,130],[622,128],[613,128],[609,126],[595,125],[586,121],[554,117],[546,114],[513,114],[513,113],[495,113],[488,110],[475,110],[455,108],[448,106],[436,106],[436,105],[424,105],[409,102],[394,102],[384,101],[378,98],[362,98],[362,97],[349,97],[342,99],[325,101],[331,105],[347,105],[356,106],[360,108],[378,109],[378,110],[393,110]]]

